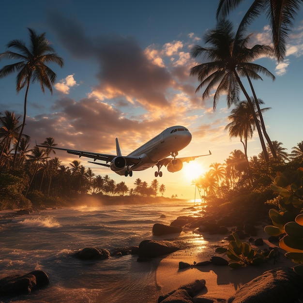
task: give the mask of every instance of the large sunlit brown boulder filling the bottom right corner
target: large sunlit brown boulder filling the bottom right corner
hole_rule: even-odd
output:
[[[272,269],[244,284],[228,303],[293,303],[302,292],[303,277],[291,268]]]

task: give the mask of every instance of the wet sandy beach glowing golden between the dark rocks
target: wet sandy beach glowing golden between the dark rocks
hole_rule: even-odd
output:
[[[262,238],[264,245],[254,246],[255,250],[265,249],[270,247],[278,247],[273,243],[268,242],[268,235],[264,232],[265,225],[258,226],[257,238]],[[205,279],[206,287],[200,292],[197,297],[207,297],[216,299],[228,299],[245,283],[251,281],[262,273],[276,267],[293,267],[294,263],[284,257],[284,252],[279,248],[281,256],[275,263],[271,260],[259,266],[247,266],[240,269],[232,269],[228,266],[207,265],[179,270],[179,262],[187,262],[194,264],[194,261],[201,262],[210,260],[212,256],[220,256],[228,260],[225,254],[216,254],[215,248],[218,246],[228,246],[228,241],[224,240],[225,236],[194,234],[192,231],[182,232],[181,237],[186,242],[192,242],[192,247],[177,251],[162,258],[158,263],[156,270],[156,283],[161,294],[177,289],[187,283],[191,283],[196,279]],[[241,240],[248,242],[248,239]]]

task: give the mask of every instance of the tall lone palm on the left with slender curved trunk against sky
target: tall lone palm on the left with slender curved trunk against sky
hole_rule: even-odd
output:
[[[12,47],[19,51],[19,53],[7,50],[4,53],[0,54],[0,59],[5,58],[20,60],[13,64],[5,65],[2,67],[0,69],[0,78],[8,76],[17,71],[18,74],[16,77],[16,91],[19,92],[26,86],[23,122],[18,142],[16,144],[14,166],[17,148],[19,146],[19,142],[25,126],[27,96],[30,87],[30,81],[32,83],[38,81],[43,92],[45,92],[45,88],[47,88],[52,93],[52,84],[55,83],[57,75],[47,65],[45,65],[45,63],[55,62],[61,67],[63,66],[63,59],[54,52],[54,48],[45,38],[45,33],[37,35],[34,30],[28,30],[30,31],[29,48],[21,40],[12,40],[7,44],[7,47]]]

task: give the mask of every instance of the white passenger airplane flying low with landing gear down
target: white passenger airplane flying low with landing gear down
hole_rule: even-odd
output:
[[[116,155],[98,153],[98,152],[84,152],[59,147],[52,147],[54,150],[66,151],[67,153],[75,154],[80,157],[92,158],[93,162],[89,163],[109,167],[112,171],[121,176],[132,177],[133,171],[145,170],[156,166],[155,177],[162,177],[161,167],[167,167],[169,172],[176,172],[182,169],[183,162],[195,160],[198,157],[211,155],[208,154],[181,157],[178,152],[185,148],[191,141],[192,134],[184,126],[171,126],[161,132],[159,135],[153,137],[151,140],[131,152],[127,156],[122,156],[118,138],[116,138]],[[37,145],[38,147],[46,147],[45,145]],[[171,156],[171,157],[168,157]],[[105,161],[106,163],[95,162],[96,160]],[[108,164],[110,163],[110,164]]]

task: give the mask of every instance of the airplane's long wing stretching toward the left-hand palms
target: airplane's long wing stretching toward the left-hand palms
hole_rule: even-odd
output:
[[[36,143],[36,146],[47,148],[47,146],[38,145],[37,143]],[[59,147],[52,147],[51,149],[66,151],[67,153],[71,153],[71,154],[79,156],[79,158],[81,158],[81,157],[92,158],[94,162],[90,162],[90,163],[95,163],[95,164],[106,166],[106,167],[109,167],[109,164],[107,164],[108,162],[111,162],[115,157],[117,157],[117,155],[111,155],[111,154],[106,154],[106,153],[76,151],[76,150],[70,150],[70,149],[59,148]],[[140,157],[127,157],[126,156],[123,158],[126,160],[127,166],[133,166],[133,165],[141,162],[141,160],[142,160]],[[106,164],[95,162],[96,160],[105,161]]]

